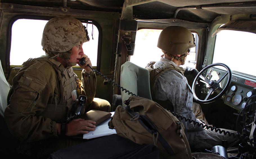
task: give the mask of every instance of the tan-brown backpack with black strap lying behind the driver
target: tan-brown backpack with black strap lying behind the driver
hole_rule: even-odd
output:
[[[109,126],[137,144],[154,144],[161,158],[192,158],[183,124],[156,102],[131,96],[129,106],[116,108]]]

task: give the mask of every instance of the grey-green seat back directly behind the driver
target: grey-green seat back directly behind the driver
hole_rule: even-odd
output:
[[[152,100],[149,84],[149,71],[132,62],[127,61],[121,66],[120,85],[139,97]],[[127,100],[131,94],[122,91],[121,95],[122,105],[126,106],[123,102]]]

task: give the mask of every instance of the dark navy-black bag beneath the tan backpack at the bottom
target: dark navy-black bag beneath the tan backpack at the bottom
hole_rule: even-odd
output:
[[[86,140],[85,140],[86,141]],[[139,145],[116,134],[64,148],[51,154],[52,159],[111,158],[158,159],[159,151],[153,144]]]

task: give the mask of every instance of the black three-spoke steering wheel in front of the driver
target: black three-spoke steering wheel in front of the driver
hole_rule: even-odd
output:
[[[215,80],[208,80],[207,78],[203,77],[202,74],[203,72],[205,72],[207,69],[211,68],[211,67],[214,67],[214,66],[223,66],[227,69],[227,72],[224,73],[221,78],[219,78],[218,81],[215,81]],[[224,86],[224,88],[221,88],[219,86],[219,83],[228,75],[228,82],[226,84],[226,86]],[[207,76],[207,75],[206,75]],[[196,93],[195,93],[195,86],[196,86],[196,82],[198,79],[201,79],[203,80],[202,82],[203,83],[207,83],[209,85],[209,93],[206,95],[205,97],[205,100],[201,100],[199,99],[197,96],[196,96]],[[192,84],[192,92],[193,92],[193,96],[194,96],[194,99],[199,102],[199,103],[211,103],[213,101],[215,101],[216,99],[218,99],[219,97],[221,97],[227,90],[228,90],[228,86],[230,85],[231,83],[231,79],[232,79],[232,71],[231,69],[225,65],[225,64],[222,64],[222,63],[215,63],[215,64],[211,64],[211,65],[208,65],[206,66],[204,69],[202,69],[196,76],[193,84]],[[210,97],[210,95],[212,94],[212,92],[220,92],[219,94],[217,94],[215,97],[213,97],[212,99],[208,99]]]

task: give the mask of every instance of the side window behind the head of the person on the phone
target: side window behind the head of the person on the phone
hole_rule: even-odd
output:
[[[18,19],[12,25],[12,41],[10,65],[20,66],[29,58],[45,55],[41,40],[45,24],[48,20]],[[83,25],[87,25],[83,23]],[[93,66],[97,66],[98,36],[97,27],[88,24],[90,41],[84,43],[84,53],[90,58]],[[93,33],[93,39],[92,34]]]

